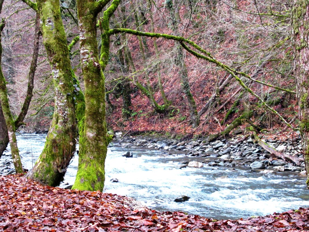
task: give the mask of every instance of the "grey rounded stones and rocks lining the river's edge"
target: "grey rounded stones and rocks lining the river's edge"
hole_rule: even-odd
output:
[[[280,153],[286,153],[296,157],[299,163],[275,157],[257,144],[251,137],[243,135],[231,138],[230,140],[222,139],[209,143],[204,139],[177,140],[150,135],[123,137],[121,132],[116,132],[114,140],[109,146],[117,145],[127,148],[128,155],[124,154],[127,157],[132,156],[133,153],[129,152],[130,148],[134,147],[163,150],[167,155],[183,153],[188,157],[192,157],[192,161],[184,162],[179,168],[201,168],[204,165],[214,168],[247,166],[254,172],[263,172],[265,174],[292,171],[298,173],[300,176],[306,176],[303,154],[300,153],[301,145],[299,136],[294,137],[293,140],[286,141],[274,139],[262,139],[262,141]],[[207,158],[210,156],[217,158]],[[196,161],[197,158],[198,161]],[[0,161],[0,175],[8,174],[15,174],[15,169],[12,163],[11,153],[6,151]]]

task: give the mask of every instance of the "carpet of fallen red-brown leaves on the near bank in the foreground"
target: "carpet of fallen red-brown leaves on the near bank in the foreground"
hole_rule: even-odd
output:
[[[0,177],[1,231],[309,231],[309,208],[265,217],[214,220],[137,208],[130,198]]]

